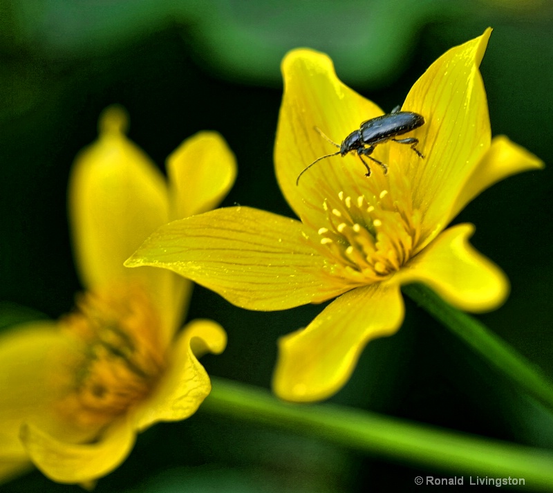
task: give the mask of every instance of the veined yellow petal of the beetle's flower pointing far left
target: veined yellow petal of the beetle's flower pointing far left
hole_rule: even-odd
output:
[[[160,227],[126,261],[157,266],[250,310],[284,310],[350,289],[324,274],[322,259],[294,219],[228,207]]]

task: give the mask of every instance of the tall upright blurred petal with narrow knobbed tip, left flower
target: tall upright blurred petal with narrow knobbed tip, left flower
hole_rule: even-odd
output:
[[[123,262],[169,221],[165,180],[122,132],[126,114],[111,106],[100,116],[100,136],[75,160],[68,189],[77,268],[87,288],[140,279],[151,292],[163,326],[175,328],[174,278],[155,269],[124,268]],[[169,329],[167,329],[169,330]]]

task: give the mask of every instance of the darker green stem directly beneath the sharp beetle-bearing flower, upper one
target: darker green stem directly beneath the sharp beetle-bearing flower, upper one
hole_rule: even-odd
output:
[[[411,284],[404,286],[402,290],[474,349],[490,366],[553,412],[553,384],[541,369],[491,332],[484,324],[453,308],[426,286]]]

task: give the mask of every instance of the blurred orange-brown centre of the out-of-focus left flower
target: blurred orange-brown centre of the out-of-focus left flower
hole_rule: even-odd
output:
[[[62,321],[82,351],[60,410],[84,427],[103,426],[144,400],[165,368],[147,293],[136,284],[110,288],[82,295]]]

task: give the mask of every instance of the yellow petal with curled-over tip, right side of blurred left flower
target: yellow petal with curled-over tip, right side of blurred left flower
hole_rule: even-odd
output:
[[[138,411],[138,429],[194,414],[212,388],[197,358],[206,351],[220,354],[226,344],[227,335],[216,322],[194,320],[188,324],[174,345],[170,366],[158,389]]]

